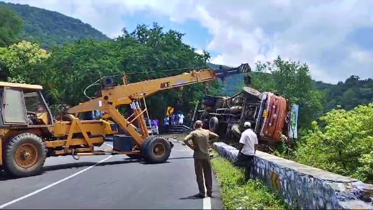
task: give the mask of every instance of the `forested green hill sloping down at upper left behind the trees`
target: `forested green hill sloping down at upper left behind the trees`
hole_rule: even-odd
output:
[[[17,12],[25,21],[19,38],[36,41],[44,48],[72,43],[80,38],[109,39],[106,35],[81,20],[28,4],[12,4],[0,1],[0,7]]]

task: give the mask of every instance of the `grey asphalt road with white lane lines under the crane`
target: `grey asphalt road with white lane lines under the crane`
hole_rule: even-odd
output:
[[[106,142],[102,148],[110,148]],[[126,155],[47,158],[42,175],[0,175],[3,209],[221,209],[213,198],[197,198],[192,150],[175,142],[166,163],[146,164]]]

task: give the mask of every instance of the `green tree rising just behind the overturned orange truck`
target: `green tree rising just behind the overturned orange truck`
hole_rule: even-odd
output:
[[[260,91],[278,93],[289,103],[300,105],[300,126],[308,126],[323,112],[325,91],[316,90],[308,65],[283,61],[257,62],[251,73],[251,86]]]

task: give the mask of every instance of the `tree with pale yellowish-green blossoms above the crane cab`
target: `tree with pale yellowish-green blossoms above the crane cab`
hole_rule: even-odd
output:
[[[43,72],[35,71],[50,56],[36,43],[21,41],[9,47],[0,47],[0,79],[2,81],[33,84]]]

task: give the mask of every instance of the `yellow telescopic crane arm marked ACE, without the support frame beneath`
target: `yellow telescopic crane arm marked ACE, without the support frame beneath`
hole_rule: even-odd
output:
[[[92,101],[74,106],[68,110],[68,113],[74,114],[102,109],[102,104],[105,102],[112,103],[111,105],[114,107],[118,105],[131,104],[131,102],[136,99],[153,95],[154,93],[162,90],[216,80],[217,78],[225,78],[229,75],[241,74],[250,71],[251,69],[248,64],[242,64],[239,67],[231,69],[221,68],[219,70],[212,70],[209,68],[200,71],[193,70],[189,73],[172,77],[163,77],[137,83],[123,84],[120,86],[113,86],[112,77],[104,77],[101,83],[106,85],[110,84],[111,86],[109,85],[109,87],[104,87],[101,90],[102,96],[93,99]],[[123,81],[126,83],[126,75],[123,76]]]

